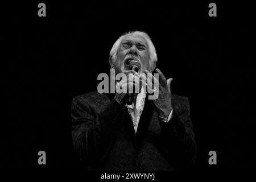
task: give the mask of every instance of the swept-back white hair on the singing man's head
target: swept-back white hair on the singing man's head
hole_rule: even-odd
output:
[[[119,39],[117,39],[117,41],[115,41],[115,43],[109,53],[109,55],[110,55],[110,57],[112,57],[113,61],[116,60],[118,47],[120,46],[123,38],[125,38],[125,36],[127,36],[127,35],[142,36],[144,39],[146,39],[146,42],[148,44],[148,51],[150,52],[150,60],[149,60],[150,64],[152,65],[152,63],[156,63],[156,61],[158,61],[158,56],[156,55],[155,46],[152,43],[150,36],[148,36],[146,32],[142,32],[142,31],[126,32],[125,34],[120,36]],[[110,65],[111,65],[111,63],[110,63]]]

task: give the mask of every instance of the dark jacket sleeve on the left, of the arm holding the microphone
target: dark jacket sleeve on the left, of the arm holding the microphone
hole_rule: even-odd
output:
[[[73,99],[72,139],[80,160],[90,165],[104,156],[117,132],[123,111],[115,100],[97,113],[89,104],[81,104],[79,99]]]

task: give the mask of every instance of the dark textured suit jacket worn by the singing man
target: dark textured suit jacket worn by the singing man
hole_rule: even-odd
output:
[[[189,101],[172,94],[173,117],[159,121],[146,100],[137,134],[114,94],[91,92],[72,101],[72,137],[89,170],[173,170],[195,163],[196,143]]]

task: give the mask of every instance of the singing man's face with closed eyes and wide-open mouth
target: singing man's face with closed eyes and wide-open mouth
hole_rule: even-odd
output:
[[[141,64],[141,69],[138,73],[145,70],[150,71],[150,54],[146,39],[142,36],[127,35],[123,38],[118,50],[117,60],[115,60],[115,73],[121,73],[125,70],[130,70],[129,63],[131,60],[138,61]]]

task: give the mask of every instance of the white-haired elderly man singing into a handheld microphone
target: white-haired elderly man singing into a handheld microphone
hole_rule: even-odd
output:
[[[171,94],[172,78],[166,80],[155,69],[156,61],[150,37],[141,31],[127,32],[114,43],[109,63],[115,74],[127,76],[116,86],[127,92],[139,88],[139,93],[92,92],[73,99],[73,144],[88,170],[172,171],[195,164],[188,98]],[[137,70],[131,69],[132,62]],[[149,100],[154,92],[158,97]]]

